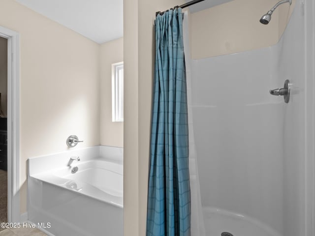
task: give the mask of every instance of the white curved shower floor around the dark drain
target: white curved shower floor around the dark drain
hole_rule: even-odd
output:
[[[263,223],[226,210],[203,208],[206,236],[221,236],[228,232],[233,236],[281,236]]]

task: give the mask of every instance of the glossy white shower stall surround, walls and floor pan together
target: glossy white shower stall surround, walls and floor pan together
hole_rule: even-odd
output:
[[[303,7],[272,47],[190,59],[185,39],[206,235],[306,235]],[[287,79],[286,104],[269,90]]]

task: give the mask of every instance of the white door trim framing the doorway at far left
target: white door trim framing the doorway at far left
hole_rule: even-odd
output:
[[[0,37],[8,40],[8,222],[20,222],[20,35],[18,32],[0,26]]]

